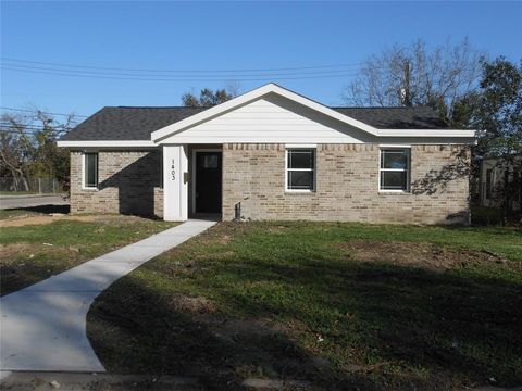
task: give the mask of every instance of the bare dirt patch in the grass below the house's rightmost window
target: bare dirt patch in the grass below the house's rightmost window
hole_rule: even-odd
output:
[[[357,261],[382,261],[434,269],[507,262],[485,250],[453,250],[432,243],[352,241],[339,245]]]

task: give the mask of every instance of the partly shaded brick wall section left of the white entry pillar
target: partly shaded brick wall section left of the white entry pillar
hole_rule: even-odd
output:
[[[71,213],[163,215],[161,151],[100,151],[98,190],[82,188],[82,152],[71,152]]]

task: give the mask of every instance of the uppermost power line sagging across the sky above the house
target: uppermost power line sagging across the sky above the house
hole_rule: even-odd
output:
[[[65,63],[54,63],[54,62],[42,62],[42,61],[29,61],[29,60],[20,60],[12,58],[0,58],[2,60],[18,62],[18,63],[29,63],[29,64],[40,64],[40,65],[55,65],[61,67],[77,67],[77,68],[90,68],[90,70],[105,70],[105,71],[126,71],[126,72],[169,72],[169,73],[244,73],[244,72],[279,72],[279,71],[300,71],[300,70],[324,70],[324,68],[335,68],[335,67],[350,67],[363,65],[363,63],[344,63],[344,64],[328,64],[328,65],[309,65],[309,66],[296,66],[296,67],[277,67],[277,68],[236,68],[236,70],[150,70],[150,68],[127,68],[127,67],[109,67],[109,66],[92,66],[92,65],[78,65],[78,64],[65,64]]]

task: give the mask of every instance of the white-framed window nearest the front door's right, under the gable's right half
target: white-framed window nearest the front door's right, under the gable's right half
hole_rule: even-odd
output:
[[[315,150],[286,150],[286,190],[315,190]]]

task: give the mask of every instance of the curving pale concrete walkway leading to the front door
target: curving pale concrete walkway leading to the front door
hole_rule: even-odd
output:
[[[86,333],[101,291],[215,222],[188,220],[0,299],[0,369],[104,371]]]

